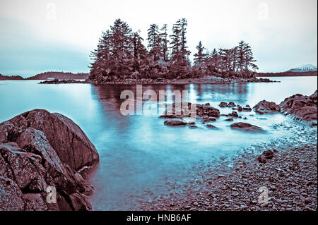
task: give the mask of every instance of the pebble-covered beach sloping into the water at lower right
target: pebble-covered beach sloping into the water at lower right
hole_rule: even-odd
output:
[[[180,194],[143,202],[141,210],[173,211],[317,211],[317,144],[274,150],[273,159],[256,156],[233,159],[229,174],[209,166]],[[259,202],[259,188],[268,202]]]

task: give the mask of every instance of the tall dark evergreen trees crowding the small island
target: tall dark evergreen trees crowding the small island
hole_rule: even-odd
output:
[[[150,25],[148,46],[143,44],[140,31],[134,32],[117,19],[102,32],[98,47],[91,52],[90,79],[100,82],[117,78],[199,78],[205,75],[222,77],[254,77],[252,49],[241,41],[232,49],[208,52],[201,42],[189,60],[187,20],[177,20],[168,34],[167,24]]]

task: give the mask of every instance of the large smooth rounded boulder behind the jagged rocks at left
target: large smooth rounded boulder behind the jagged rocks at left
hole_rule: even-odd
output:
[[[16,141],[27,128],[41,130],[57,152],[61,162],[78,171],[93,166],[99,160],[98,152],[85,133],[70,118],[35,109],[0,123],[0,141]]]

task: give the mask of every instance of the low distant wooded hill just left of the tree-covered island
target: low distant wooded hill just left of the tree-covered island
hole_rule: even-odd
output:
[[[64,73],[64,72],[45,72],[34,75],[26,80],[47,80],[48,78],[59,79],[59,80],[70,80],[70,79],[87,79],[89,73]]]

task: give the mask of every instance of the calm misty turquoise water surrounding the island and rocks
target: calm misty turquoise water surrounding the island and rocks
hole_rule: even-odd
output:
[[[143,85],[143,90],[189,90],[189,101],[235,102],[254,107],[262,99],[280,103],[295,93],[311,95],[317,77],[273,78],[281,83],[230,85]],[[100,165],[91,181],[95,195],[93,209],[138,209],[139,201],[155,200],[171,191],[182,191],[197,164],[230,159],[257,143],[277,140],[306,142],[313,132],[281,114],[255,115],[242,112],[247,123],[261,126],[266,133],[243,133],[230,129],[224,117],[213,122],[218,130],[170,128],[158,118],[162,102],[151,102],[157,114],[122,116],[122,90],[136,91],[135,85],[61,84],[38,85],[39,81],[0,81],[0,121],[31,109],[47,109],[73,119],[100,153]],[[194,95],[196,92],[196,95]],[[169,101],[170,99],[168,99]],[[230,109],[220,109],[221,114]],[[237,121],[242,119],[237,118]],[[242,120],[243,121],[243,120]],[[315,129],[315,128],[311,128]],[[317,136],[317,130],[314,130]],[[317,140],[317,139],[316,139]],[[230,166],[230,164],[228,165]]]

